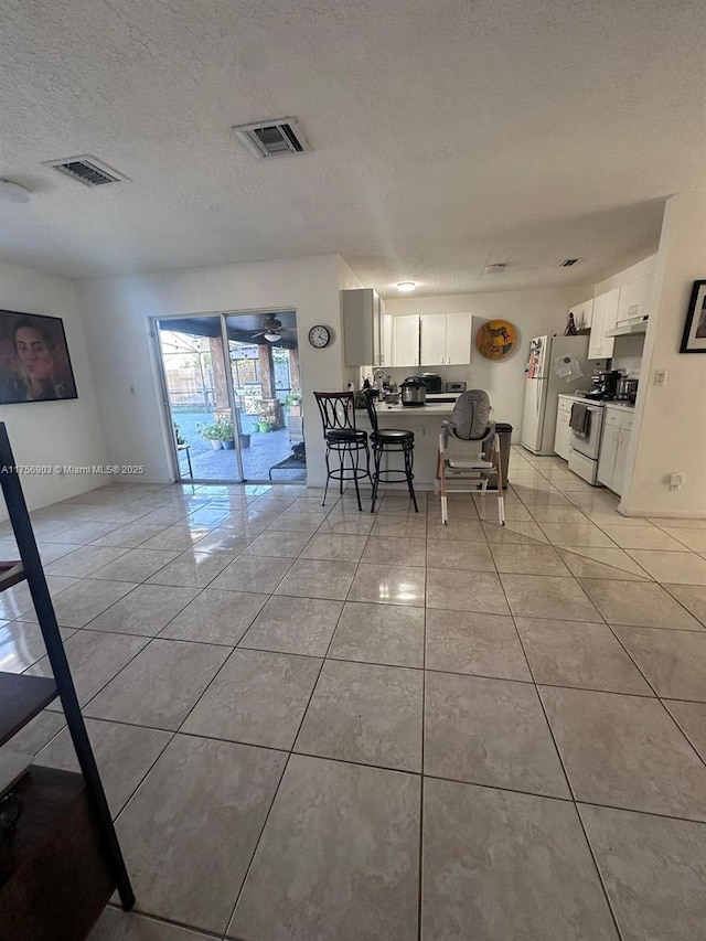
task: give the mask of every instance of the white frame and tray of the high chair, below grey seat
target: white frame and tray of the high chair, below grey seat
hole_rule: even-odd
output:
[[[483,450],[491,442],[490,460],[483,457]],[[498,474],[498,486],[488,489],[492,473]],[[452,486],[449,490],[448,484]],[[458,484],[461,484],[460,486]],[[503,499],[502,456],[500,436],[495,423],[491,421],[480,438],[459,438],[453,426],[445,421],[439,435],[437,456],[437,477],[434,492],[441,492],[441,522],[449,522],[448,493],[498,493],[498,520],[505,525],[505,501]]]

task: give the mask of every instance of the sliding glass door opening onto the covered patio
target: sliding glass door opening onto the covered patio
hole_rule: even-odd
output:
[[[296,311],[180,316],[156,327],[179,480],[306,481]]]

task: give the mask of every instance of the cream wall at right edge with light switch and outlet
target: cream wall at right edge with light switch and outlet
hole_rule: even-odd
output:
[[[706,274],[706,193],[666,202],[654,277],[653,312],[621,509],[629,515],[706,517],[706,355],[680,353],[695,280]],[[667,371],[665,386],[653,384]],[[684,485],[670,490],[673,472]]]

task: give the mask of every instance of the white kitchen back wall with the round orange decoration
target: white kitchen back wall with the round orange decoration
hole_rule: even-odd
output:
[[[513,426],[513,440],[518,441],[528,341],[543,334],[564,333],[569,307],[591,297],[591,291],[589,285],[563,290],[394,298],[385,301],[385,313],[395,317],[413,313],[471,313],[473,343],[478,329],[486,320],[509,320],[513,323],[517,330],[517,344],[507,359],[500,362],[485,360],[473,345],[470,366],[441,366],[439,372],[445,381],[464,379],[469,388],[484,388],[493,406],[493,418],[496,421],[509,421]],[[389,370],[397,383],[409,373],[421,372],[436,370],[434,366]],[[589,377],[586,385],[590,385]]]

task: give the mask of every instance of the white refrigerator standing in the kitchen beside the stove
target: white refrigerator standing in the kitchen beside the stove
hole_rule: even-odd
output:
[[[534,455],[554,453],[559,393],[589,389],[588,336],[535,336],[525,366],[523,447]]]

